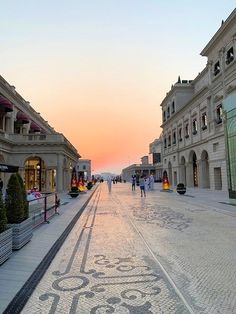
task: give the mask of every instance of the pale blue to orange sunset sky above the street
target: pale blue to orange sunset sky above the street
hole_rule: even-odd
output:
[[[140,163],[235,0],[0,0],[0,75],[94,173]]]

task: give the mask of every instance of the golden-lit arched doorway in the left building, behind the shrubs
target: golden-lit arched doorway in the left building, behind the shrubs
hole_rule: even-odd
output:
[[[45,163],[40,157],[31,157],[24,164],[24,181],[26,190],[36,187],[38,191],[46,191]]]

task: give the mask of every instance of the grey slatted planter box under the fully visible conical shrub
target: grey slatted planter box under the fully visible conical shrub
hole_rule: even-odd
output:
[[[33,236],[32,218],[28,218],[19,224],[9,224],[12,228],[12,249],[19,250],[28,243]]]

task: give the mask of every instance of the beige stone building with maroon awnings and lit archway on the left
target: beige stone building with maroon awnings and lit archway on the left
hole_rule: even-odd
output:
[[[27,189],[67,191],[76,148],[0,76],[0,164],[19,167]],[[0,172],[4,188],[9,173]]]

